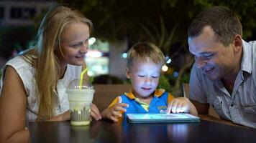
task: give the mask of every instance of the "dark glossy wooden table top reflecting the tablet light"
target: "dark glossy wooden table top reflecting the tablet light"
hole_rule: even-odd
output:
[[[131,124],[108,120],[73,127],[70,122],[29,122],[32,142],[256,142],[256,129],[216,122]]]

